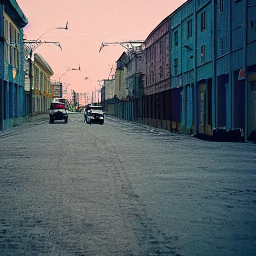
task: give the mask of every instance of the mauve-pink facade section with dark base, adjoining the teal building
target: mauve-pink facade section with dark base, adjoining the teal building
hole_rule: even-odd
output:
[[[143,122],[171,130],[169,18],[163,19],[145,39]]]

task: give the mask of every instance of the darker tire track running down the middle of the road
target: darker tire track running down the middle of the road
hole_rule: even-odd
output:
[[[175,248],[171,245],[170,237],[166,237],[148,216],[145,204],[141,201],[131,185],[126,169],[120,160],[115,148],[108,147],[112,154],[112,161],[115,166],[112,178],[115,184],[116,198],[119,203],[123,217],[127,219],[133,232],[136,234],[138,244],[141,248],[141,256],[162,255],[175,256]]]

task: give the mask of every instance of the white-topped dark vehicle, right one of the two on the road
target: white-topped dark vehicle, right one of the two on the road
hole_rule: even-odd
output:
[[[104,123],[104,113],[102,106],[87,105],[84,108],[84,121],[86,123]]]

